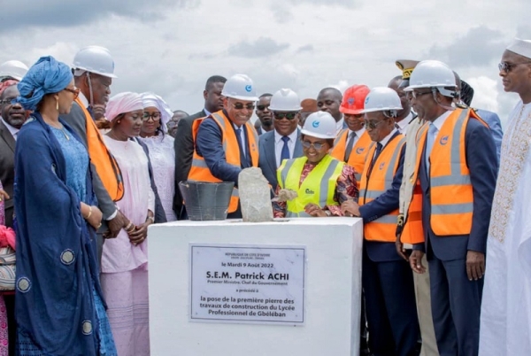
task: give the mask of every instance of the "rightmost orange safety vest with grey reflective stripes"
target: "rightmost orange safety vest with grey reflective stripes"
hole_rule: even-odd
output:
[[[430,225],[437,236],[469,235],[472,229],[473,188],[465,143],[470,118],[487,126],[473,110],[456,109],[444,121],[429,155]],[[424,147],[426,137],[427,130],[420,136],[419,148]],[[417,167],[422,151],[417,151]]]

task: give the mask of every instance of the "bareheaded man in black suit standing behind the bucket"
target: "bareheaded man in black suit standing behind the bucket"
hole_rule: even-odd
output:
[[[212,75],[204,84],[204,108],[186,118],[181,119],[177,126],[173,150],[175,151],[175,195],[173,196],[173,212],[178,220],[187,218],[186,207],[182,204],[179,182],[186,181],[192,166],[194,156],[194,139],[192,126],[197,119],[203,119],[212,112],[223,109],[223,87],[227,78],[221,75]]]

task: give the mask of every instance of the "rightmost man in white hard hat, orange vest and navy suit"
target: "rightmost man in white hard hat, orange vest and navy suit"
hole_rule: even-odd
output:
[[[452,106],[458,94],[449,66],[420,62],[405,91],[411,92],[419,117],[429,122],[418,133],[412,178],[422,192],[425,241],[413,245],[410,265],[426,273],[422,258],[427,254],[440,354],[477,355],[496,146],[473,110]]]

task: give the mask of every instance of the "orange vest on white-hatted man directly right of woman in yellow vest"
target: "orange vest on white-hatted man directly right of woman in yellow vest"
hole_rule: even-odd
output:
[[[380,156],[374,162],[373,170],[368,175],[371,161],[374,157],[374,144],[367,155],[366,165],[361,176],[359,190],[359,205],[366,205],[380,197],[386,190],[392,189],[393,179],[400,162],[400,153],[404,148],[405,136],[393,137],[381,150]],[[367,176],[368,175],[368,176]],[[381,216],[375,221],[364,225],[364,237],[369,241],[394,243],[396,241],[396,223],[398,222],[398,206],[391,213]]]

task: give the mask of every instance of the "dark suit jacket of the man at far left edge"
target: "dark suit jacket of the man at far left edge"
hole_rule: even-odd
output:
[[[15,139],[4,122],[0,120],[0,182],[4,190],[9,194],[9,199],[4,202],[5,226],[13,227],[14,194],[13,184],[15,182]]]

